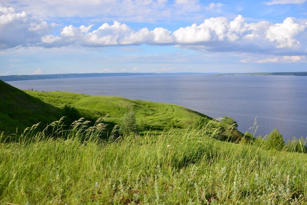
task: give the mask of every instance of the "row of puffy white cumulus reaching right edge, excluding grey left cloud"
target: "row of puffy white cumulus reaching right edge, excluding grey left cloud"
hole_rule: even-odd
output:
[[[114,21],[102,24],[95,30],[90,26],[64,27],[59,35],[45,35],[41,38],[44,47],[77,45],[83,47],[127,46],[127,45],[178,45],[198,51],[214,52],[289,52],[307,48],[306,39],[300,35],[307,28],[306,23],[297,23],[286,18],[281,24],[268,21],[246,23],[238,15],[228,21],[226,17],[205,19],[204,23],[179,28],[173,33],[164,28],[147,28],[138,31],[128,25]],[[305,52],[305,51],[304,51]]]

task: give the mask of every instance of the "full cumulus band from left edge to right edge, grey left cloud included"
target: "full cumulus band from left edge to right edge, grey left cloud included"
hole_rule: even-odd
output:
[[[69,25],[60,29],[58,34],[50,34],[54,25],[0,4],[0,20],[0,29],[7,31],[0,32],[0,49],[16,46],[51,48],[148,44],[210,52],[261,52],[282,56],[307,53],[307,22],[296,21],[292,17],[276,24],[268,21],[247,23],[242,15],[232,20],[215,17],[173,32],[165,28],[133,30],[126,24],[114,21],[113,24],[104,23],[98,29],[93,29],[92,24],[79,27]]]

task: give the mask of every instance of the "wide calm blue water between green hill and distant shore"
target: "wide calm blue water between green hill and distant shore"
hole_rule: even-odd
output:
[[[285,139],[307,137],[307,77],[154,75],[8,82],[20,89],[64,90],[89,95],[173,103],[210,117],[230,116],[256,135],[275,127]]]

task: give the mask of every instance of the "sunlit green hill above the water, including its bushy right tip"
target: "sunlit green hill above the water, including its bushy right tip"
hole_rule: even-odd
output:
[[[198,123],[203,124],[204,119],[212,119],[183,106],[168,103],[131,100],[113,96],[90,96],[63,91],[39,92],[27,90],[26,93],[58,108],[69,104],[77,108],[81,117],[88,119],[108,115],[106,122],[110,125],[120,124],[125,113],[132,109],[140,131],[151,131],[154,135],[170,127],[195,127]],[[213,127],[220,128],[219,139],[222,141],[237,142],[243,137],[241,132],[233,129],[229,124],[216,120],[210,121]]]

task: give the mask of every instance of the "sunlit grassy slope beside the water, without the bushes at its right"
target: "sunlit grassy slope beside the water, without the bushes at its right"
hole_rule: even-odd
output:
[[[108,114],[108,120],[115,123],[120,123],[121,117],[130,109],[133,109],[137,121],[139,123],[143,121],[146,126],[152,127],[153,129],[163,129],[172,121],[176,122],[175,124],[179,127],[187,127],[199,118],[207,117],[179,105],[130,100],[123,97],[89,96],[62,91],[26,91],[26,93],[46,103],[50,103],[55,107],[63,107],[65,104],[71,104],[77,109],[96,117],[102,117]]]

